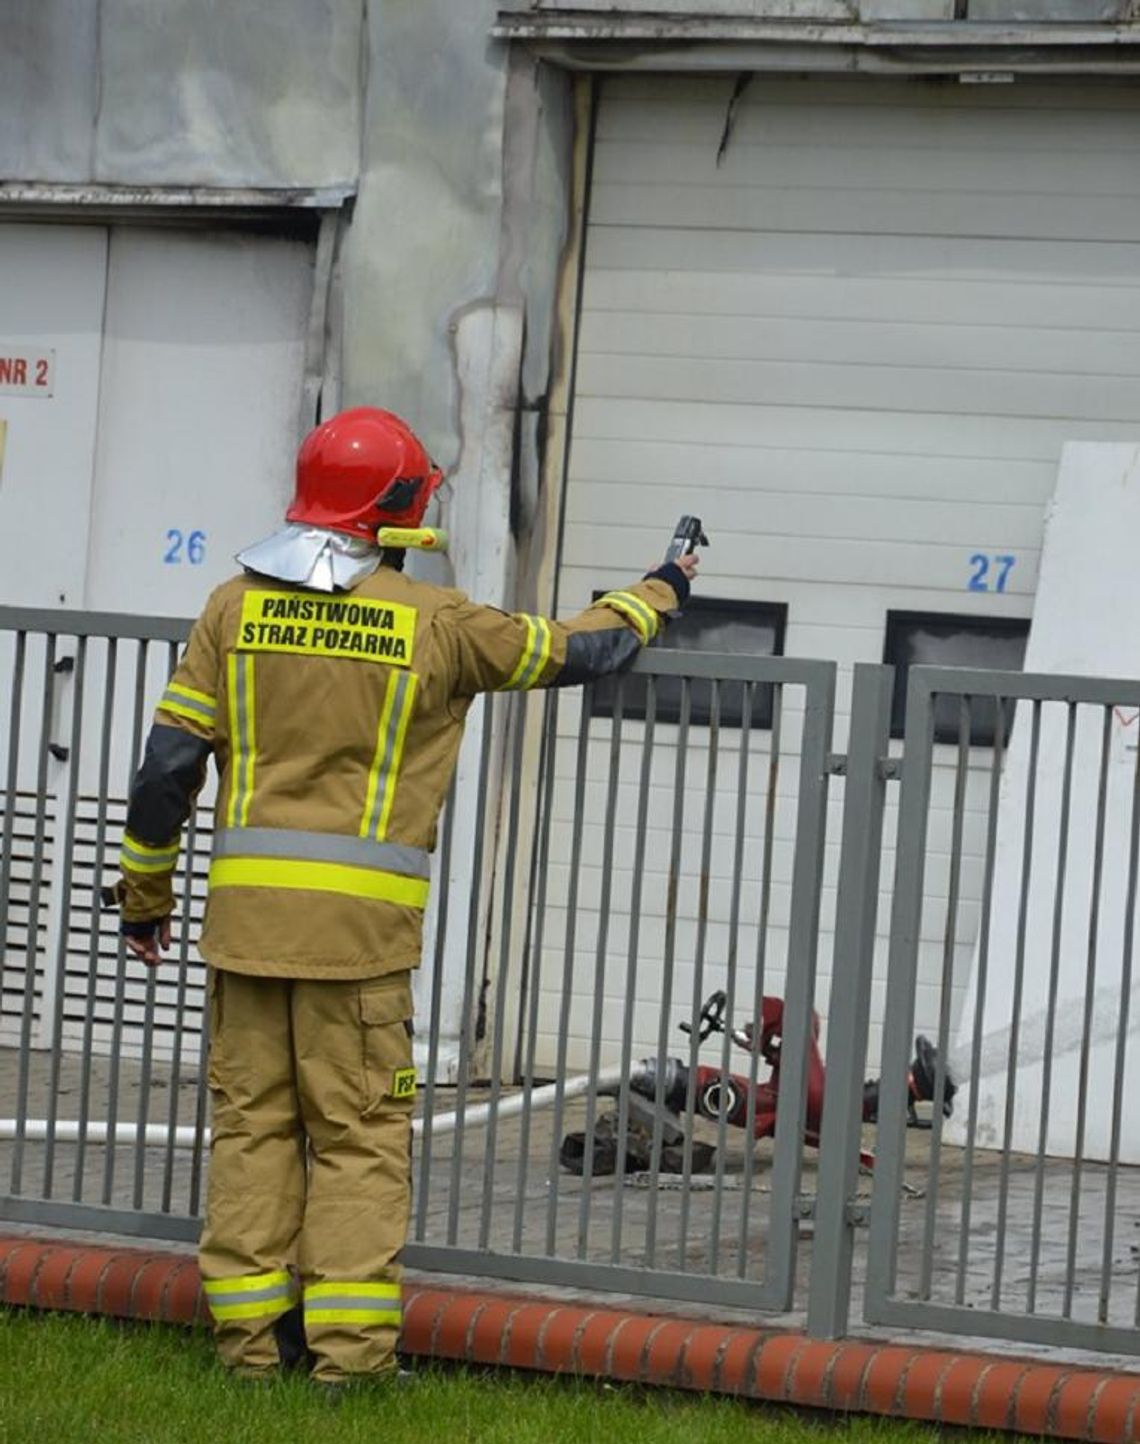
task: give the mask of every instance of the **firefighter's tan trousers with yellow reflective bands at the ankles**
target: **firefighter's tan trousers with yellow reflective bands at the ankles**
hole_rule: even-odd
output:
[[[199,1264],[224,1363],[394,1367],[415,1071],[410,973],[354,982],[210,973],[214,1102]],[[286,1320],[285,1315],[289,1315]]]

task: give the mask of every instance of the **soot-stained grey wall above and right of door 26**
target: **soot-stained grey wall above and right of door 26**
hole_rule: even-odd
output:
[[[478,534],[457,572],[498,599],[516,390],[523,370],[532,396],[548,386],[572,136],[568,82],[490,42],[494,14],[491,0],[275,0],[253,14],[10,0],[0,176],[355,186],[332,308],[341,403],[402,412],[455,469],[448,520]]]

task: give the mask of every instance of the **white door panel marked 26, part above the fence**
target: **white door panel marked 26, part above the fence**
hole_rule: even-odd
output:
[[[311,293],[308,243],[116,228],[88,606],[195,617],[280,523]]]

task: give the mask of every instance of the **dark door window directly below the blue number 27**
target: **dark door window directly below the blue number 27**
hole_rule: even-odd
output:
[[[987,667],[1020,671],[1029,640],[1029,618],[962,617],[951,612],[887,612],[883,661],[894,666],[894,696],[890,735],[903,736],[906,725],[906,679],[912,666]],[[1010,739],[1013,702],[1001,703],[1003,738]],[[958,745],[962,716],[961,697],[935,697],[935,742]],[[993,747],[996,734],[993,697],[971,697],[970,745]]]

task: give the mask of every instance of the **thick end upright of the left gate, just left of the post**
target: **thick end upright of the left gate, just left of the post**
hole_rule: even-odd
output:
[[[780,1043],[780,1100],[772,1155],[772,1223],[767,1284],[792,1307],[799,1223],[796,1199],[803,1164],[808,1109],[808,1045],[815,1004],[819,907],[828,816],[828,751],[835,715],[835,671],[821,667],[805,687],[803,739],[796,800],[796,853],[792,864],[792,915],[787,927],[787,982]]]

